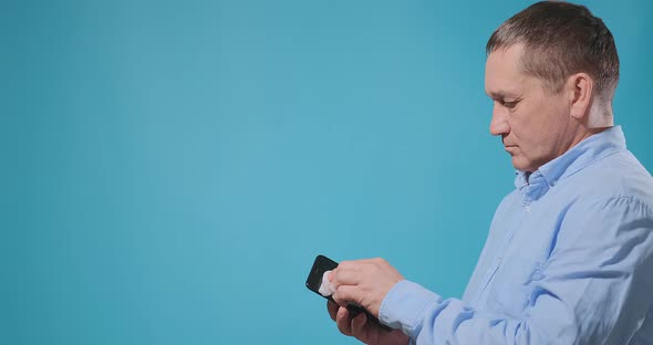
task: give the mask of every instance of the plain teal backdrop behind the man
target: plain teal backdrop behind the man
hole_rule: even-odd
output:
[[[485,43],[526,1],[2,1],[1,344],[354,344],[313,258],[460,297],[514,186]],[[653,3],[612,30],[653,168]]]

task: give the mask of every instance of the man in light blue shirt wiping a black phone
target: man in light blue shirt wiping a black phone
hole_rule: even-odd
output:
[[[487,44],[490,133],[517,169],[463,300],[382,259],[329,274],[345,335],[369,344],[653,344],[653,178],[613,126],[619,58],[582,6],[539,2]],[[356,303],[386,332],[351,317]]]

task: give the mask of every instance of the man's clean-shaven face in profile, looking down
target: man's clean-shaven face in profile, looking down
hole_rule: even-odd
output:
[[[494,101],[490,133],[501,136],[516,169],[532,172],[570,148],[578,123],[564,91],[552,94],[521,72],[522,50],[515,44],[489,54],[485,92]]]

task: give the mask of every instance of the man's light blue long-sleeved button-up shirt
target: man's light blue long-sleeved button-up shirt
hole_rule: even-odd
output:
[[[653,178],[621,128],[515,185],[463,300],[402,281],[381,322],[411,344],[653,344]]]

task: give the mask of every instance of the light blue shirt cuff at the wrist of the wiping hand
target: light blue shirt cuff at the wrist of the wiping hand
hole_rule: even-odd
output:
[[[422,285],[403,280],[387,292],[381,302],[379,321],[388,327],[402,330],[410,337],[419,332],[422,320],[442,297]]]

